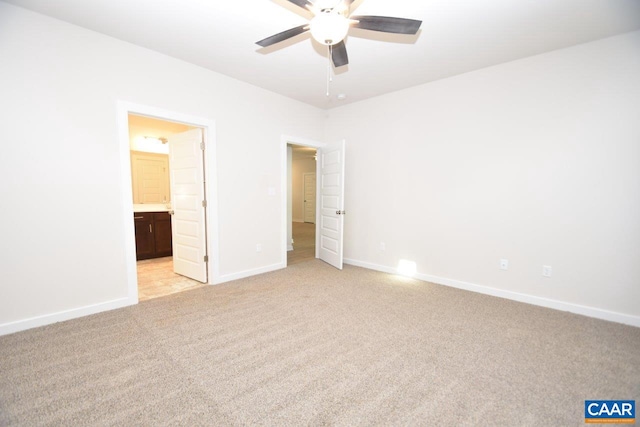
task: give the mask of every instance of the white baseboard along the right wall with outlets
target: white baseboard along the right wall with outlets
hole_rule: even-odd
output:
[[[367,268],[369,270],[382,271],[384,273],[390,273],[390,274],[398,274],[398,271],[395,268],[388,267],[385,265],[378,265],[378,264],[373,264],[365,261],[358,261],[355,259],[347,259],[347,258],[344,259],[344,263],[349,265],[354,265],[356,267]],[[640,316],[634,316],[631,314],[617,313],[615,311],[603,310],[600,308],[588,307],[584,305],[553,300],[550,298],[543,298],[543,297],[537,297],[534,295],[521,294],[518,292],[506,291],[504,289],[496,289],[489,286],[477,285],[475,283],[448,279],[446,277],[432,276],[429,274],[417,273],[413,277],[415,279],[422,280],[424,282],[450,286],[452,288],[463,289],[465,291],[478,292],[481,294],[491,295],[499,298],[505,298],[513,301],[523,302],[526,304],[552,308],[554,310],[568,311],[570,313],[581,314],[583,316],[593,317],[596,319],[608,320],[610,322],[623,323],[625,325],[640,327]]]

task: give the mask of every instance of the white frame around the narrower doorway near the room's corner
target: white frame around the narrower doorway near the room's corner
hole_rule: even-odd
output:
[[[287,198],[289,195],[288,185],[287,185],[287,144],[293,145],[302,145],[304,147],[315,148],[316,150],[324,147],[324,143],[314,141],[312,139],[301,138],[298,136],[290,136],[290,135],[282,135],[280,137],[280,194],[282,194],[281,200],[281,212],[282,217],[280,221],[280,229],[282,230],[281,239],[282,242],[282,251],[281,251],[281,260],[280,265],[282,268],[287,266],[287,247],[289,245],[288,237],[287,237]],[[318,251],[318,238],[320,236],[319,233],[319,224],[320,221],[318,218],[318,195],[320,192],[318,191],[318,185],[320,185],[320,179],[318,179],[319,169],[316,166],[316,258],[320,256]]]

